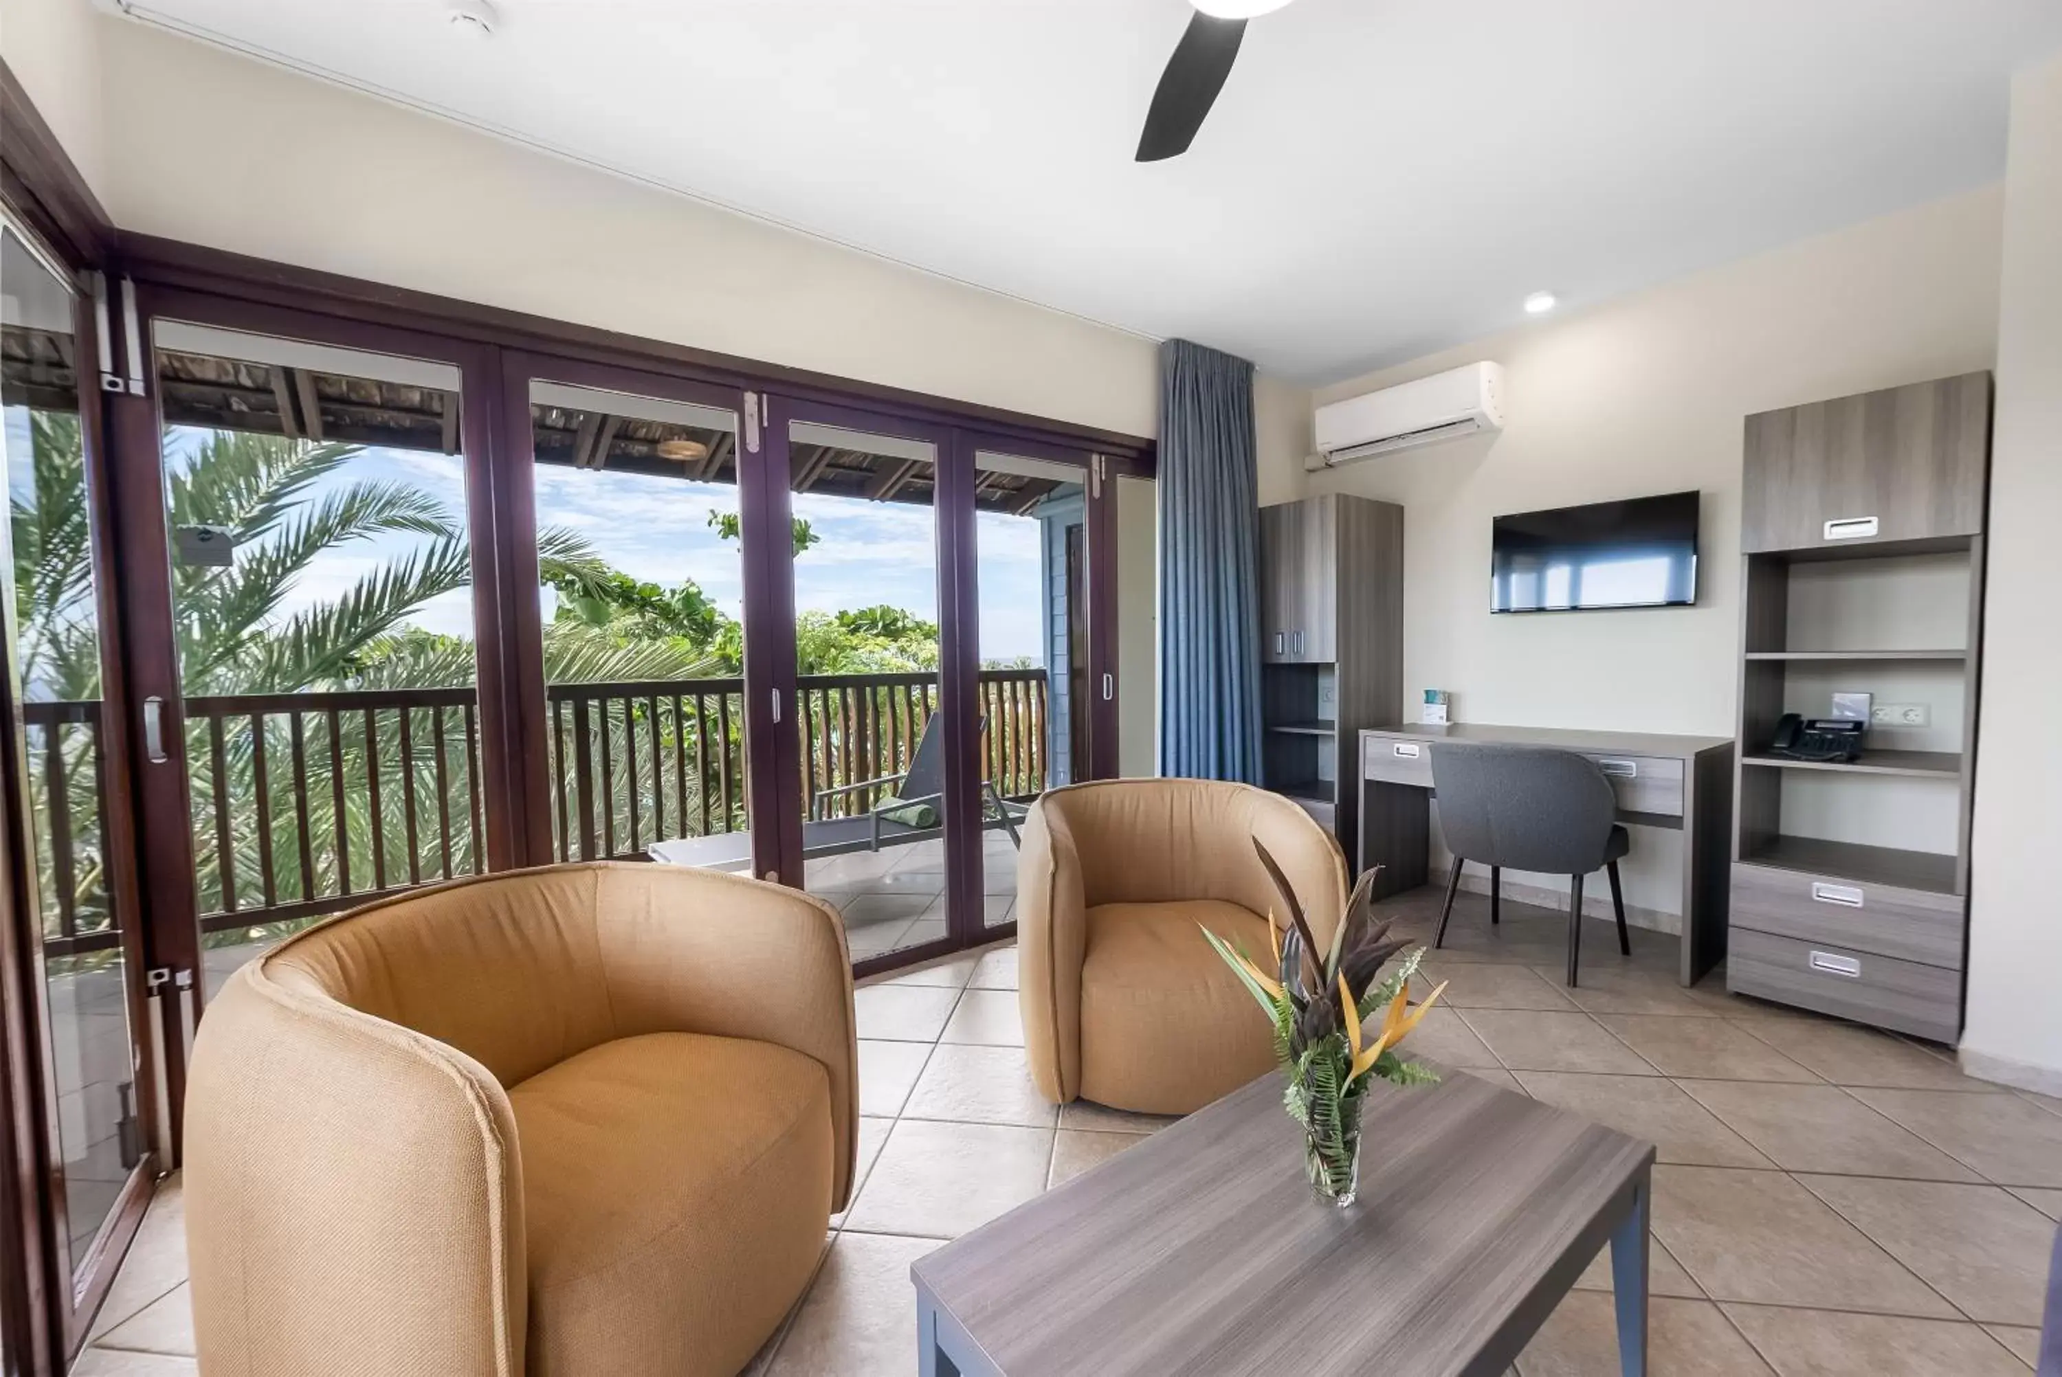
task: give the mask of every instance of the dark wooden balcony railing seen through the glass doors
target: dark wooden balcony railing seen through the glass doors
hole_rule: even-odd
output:
[[[936,674],[800,680],[802,800],[909,769]],[[982,765],[1006,798],[1045,787],[1045,672],[982,670]],[[654,841],[749,829],[744,682],[685,678],[546,691],[553,851],[641,860]],[[101,878],[101,705],[31,703],[45,952],[118,944]],[[472,688],[186,699],[202,932],[291,923],[478,874]],[[862,812],[885,790],[829,804]]]

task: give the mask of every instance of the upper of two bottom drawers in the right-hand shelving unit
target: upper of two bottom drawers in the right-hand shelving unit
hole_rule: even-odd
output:
[[[1955,895],[1734,864],[1732,926],[1961,969],[1963,901]]]

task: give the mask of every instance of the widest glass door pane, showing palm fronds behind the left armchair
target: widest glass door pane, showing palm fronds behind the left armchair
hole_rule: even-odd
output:
[[[485,868],[458,369],[157,324],[206,981]]]

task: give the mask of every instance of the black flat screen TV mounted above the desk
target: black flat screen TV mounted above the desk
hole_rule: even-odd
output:
[[[1495,519],[1491,612],[1697,602],[1697,495],[1631,497]]]

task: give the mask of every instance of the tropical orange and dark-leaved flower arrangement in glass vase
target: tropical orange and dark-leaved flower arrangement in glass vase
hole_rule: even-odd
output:
[[[1404,954],[1394,971],[1377,979],[1390,956],[1410,946],[1390,936],[1394,919],[1375,919],[1369,909],[1379,868],[1363,874],[1353,886],[1330,946],[1320,948],[1281,866],[1260,841],[1254,841],[1254,849],[1274,888],[1281,891],[1291,923],[1283,936],[1274,915],[1268,915],[1274,975],[1208,928],[1202,936],[1274,1022],[1274,1057],[1289,1082],[1283,1099],[1303,1126],[1303,1161],[1311,1189],[1320,1200],[1349,1206],[1359,1189],[1361,1105],[1367,1086],[1375,1076],[1394,1084],[1437,1080],[1425,1066],[1404,1062],[1396,1049],[1445,985],[1410,1008],[1410,977],[1425,956],[1423,946]]]

